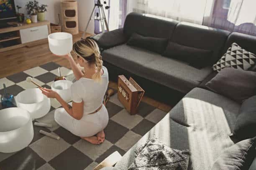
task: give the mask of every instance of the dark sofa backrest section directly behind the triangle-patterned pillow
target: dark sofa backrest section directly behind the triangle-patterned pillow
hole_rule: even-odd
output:
[[[227,50],[228,47],[230,47],[233,42],[236,42],[244,48],[247,51],[252,52],[253,54],[256,54],[256,37],[253,35],[247,35],[239,32],[232,32],[225,43],[225,47],[222,50],[223,55]]]

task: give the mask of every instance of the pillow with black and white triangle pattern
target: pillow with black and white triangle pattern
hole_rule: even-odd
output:
[[[225,67],[248,70],[256,63],[256,55],[244,50],[237,43],[233,43],[220,60],[212,66],[213,70],[220,72]]]

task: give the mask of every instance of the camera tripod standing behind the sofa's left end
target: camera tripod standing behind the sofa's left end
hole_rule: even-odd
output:
[[[104,1],[104,4],[106,4],[107,2]],[[90,21],[92,20],[92,15],[95,13],[95,9],[96,7],[98,7],[99,9],[99,12],[96,14],[96,18],[94,20],[98,20],[100,21],[100,25],[101,25],[101,29],[102,29],[102,33],[105,32],[105,27],[104,27],[104,24],[107,28],[107,31],[109,31],[109,28],[108,28],[108,22],[107,22],[107,19],[106,19],[106,16],[105,16],[105,12],[104,12],[104,8],[103,8],[103,5],[102,3],[100,2],[100,0],[97,0],[97,3],[95,3],[94,7],[93,7],[93,10],[92,10],[92,13],[90,15],[90,18],[89,18],[89,21],[85,27],[85,30],[84,30],[84,33],[82,35],[82,37],[84,37],[86,31],[87,31],[87,28],[90,24]],[[105,6],[105,9],[108,10],[110,8],[110,6]]]

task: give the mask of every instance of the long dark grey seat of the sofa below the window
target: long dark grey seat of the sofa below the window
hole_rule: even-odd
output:
[[[125,44],[104,50],[102,59],[183,93],[197,87],[212,72],[211,67],[197,69],[185,62]]]

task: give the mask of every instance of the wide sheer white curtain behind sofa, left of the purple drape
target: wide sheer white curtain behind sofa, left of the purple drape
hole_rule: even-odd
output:
[[[138,0],[133,11],[202,24],[206,0]]]

